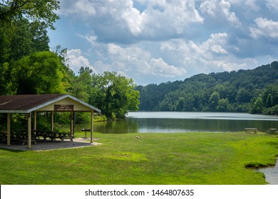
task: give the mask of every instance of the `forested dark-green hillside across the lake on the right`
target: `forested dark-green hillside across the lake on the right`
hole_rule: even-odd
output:
[[[278,114],[278,62],[138,86],[140,110]]]

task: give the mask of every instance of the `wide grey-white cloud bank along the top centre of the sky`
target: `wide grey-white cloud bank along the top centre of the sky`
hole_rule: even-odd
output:
[[[194,0],[141,1],[140,12],[132,0],[62,0],[59,14],[86,23],[98,41],[133,43],[164,40],[190,34],[190,23],[202,23]]]

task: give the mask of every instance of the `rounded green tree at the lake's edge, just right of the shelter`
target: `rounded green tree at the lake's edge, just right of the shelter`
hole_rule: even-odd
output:
[[[134,90],[132,79],[115,72],[93,74],[89,102],[101,109],[110,119],[124,118],[128,111],[138,110],[139,92]]]

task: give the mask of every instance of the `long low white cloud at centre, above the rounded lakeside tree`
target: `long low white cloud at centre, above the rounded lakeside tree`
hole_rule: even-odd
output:
[[[169,65],[163,58],[152,58],[150,52],[135,45],[124,48],[115,43],[109,43],[107,50],[110,63],[103,64],[103,62],[98,61],[94,65],[98,70],[102,68],[122,74],[135,73],[156,77],[175,77],[186,73],[184,68]]]

